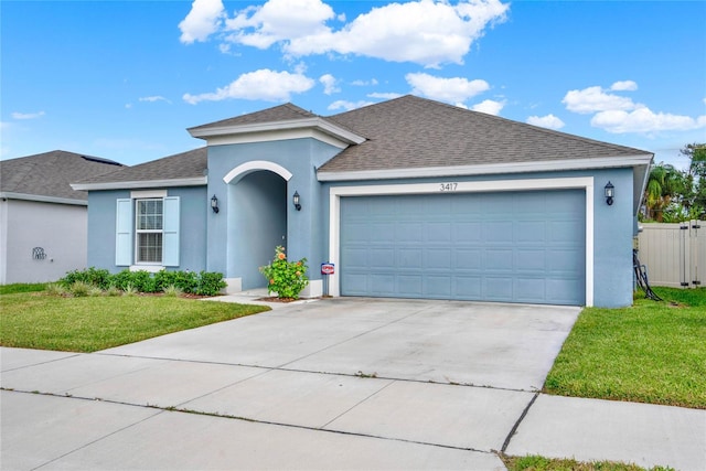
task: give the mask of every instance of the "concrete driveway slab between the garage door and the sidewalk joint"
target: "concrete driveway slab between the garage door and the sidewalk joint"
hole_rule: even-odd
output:
[[[537,390],[579,311],[334,298],[103,353]]]

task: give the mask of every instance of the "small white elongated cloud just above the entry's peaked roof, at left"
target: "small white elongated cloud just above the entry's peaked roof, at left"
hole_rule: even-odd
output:
[[[302,74],[263,68],[243,74],[229,85],[212,93],[184,94],[183,99],[192,105],[199,101],[221,101],[233,98],[288,101],[291,94],[307,92],[314,84],[313,79]]]

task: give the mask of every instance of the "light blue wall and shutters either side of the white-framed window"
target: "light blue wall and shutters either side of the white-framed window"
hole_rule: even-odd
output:
[[[163,189],[153,189],[163,190]],[[206,217],[210,210],[205,186],[167,189],[180,197],[180,266],[173,270],[206,269]],[[115,265],[116,201],[129,199],[129,190],[88,192],[88,266],[111,272],[127,267]]]

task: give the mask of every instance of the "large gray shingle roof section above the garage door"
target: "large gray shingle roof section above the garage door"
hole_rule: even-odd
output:
[[[649,154],[411,95],[327,119],[367,140],[339,153],[319,169],[321,172]]]

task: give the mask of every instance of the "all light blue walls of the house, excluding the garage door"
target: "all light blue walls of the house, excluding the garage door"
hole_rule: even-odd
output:
[[[613,308],[632,303],[635,215],[631,168],[319,182],[315,169],[340,151],[312,138],[211,146],[207,186],[168,189],[170,196],[181,196],[179,269],[205,269],[220,271],[226,278],[242,278],[244,289],[265,286],[257,268],[271,259],[284,232],[288,257],[306,257],[310,279],[321,279],[319,266],[329,261],[331,186],[593,176],[593,304]],[[285,181],[274,172],[257,170],[231,183],[224,182],[224,176],[233,169],[252,161],[280,165],[291,173],[291,179]],[[612,206],[608,206],[603,197],[608,181],[616,188]],[[301,211],[297,211],[291,202],[295,191],[300,195]],[[220,202],[217,214],[210,210],[212,195]],[[111,271],[124,268],[115,266],[115,212],[116,200],[129,196],[129,191],[89,192],[88,266]]]

